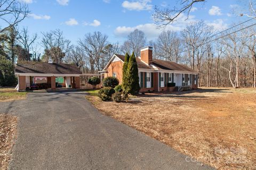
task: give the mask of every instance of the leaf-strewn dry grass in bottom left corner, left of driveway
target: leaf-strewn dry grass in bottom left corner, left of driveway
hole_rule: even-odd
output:
[[[0,114],[0,169],[6,170],[11,159],[14,138],[17,132],[17,117]]]

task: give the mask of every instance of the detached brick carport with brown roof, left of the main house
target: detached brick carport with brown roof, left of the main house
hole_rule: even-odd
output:
[[[56,81],[62,78],[61,87],[80,88],[82,72],[74,64],[57,64],[44,62],[20,61],[15,67],[18,77],[18,91],[25,91],[32,83],[46,84],[52,90],[56,89]]]

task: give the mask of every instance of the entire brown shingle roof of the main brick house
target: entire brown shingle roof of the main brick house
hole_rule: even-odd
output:
[[[122,61],[124,61],[124,58],[125,58],[124,55],[119,55],[119,54],[115,54],[115,55],[118,58],[120,58]],[[153,67],[148,66],[147,64],[141,62],[141,60],[139,58],[136,58],[136,61],[138,63],[138,68],[139,69],[153,69]],[[163,70],[195,72],[193,69],[190,69],[187,65],[178,64],[178,63],[175,63],[175,62],[153,59],[152,64],[154,66],[156,66],[158,69],[163,69]]]

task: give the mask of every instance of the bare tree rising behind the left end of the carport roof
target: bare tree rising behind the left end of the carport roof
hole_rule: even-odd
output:
[[[36,39],[37,39],[36,33],[30,38],[28,28],[23,28],[20,32],[18,32],[17,40],[27,52],[26,58],[25,58],[25,60],[27,61],[31,60],[30,49],[31,49],[31,45],[35,42]]]

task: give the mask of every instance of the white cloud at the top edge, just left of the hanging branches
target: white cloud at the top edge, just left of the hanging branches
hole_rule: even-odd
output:
[[[124,1],[122,3],[122,6],[130,11],[152,10],[153,5],[149,3],[151,3],[151,0],[138,0],[138,1],[132,1],[132,2]]]

